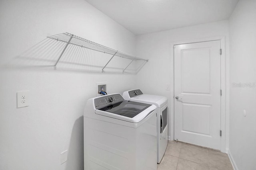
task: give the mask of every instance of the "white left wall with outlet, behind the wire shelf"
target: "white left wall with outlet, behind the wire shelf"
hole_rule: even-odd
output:
[[[82,116],[96,82],[108,82],[108,93],[135,88],[135,75],[53,70],[19,57],[63,32],[135,53],[135,36],[84,0],[1,0],[0,169],[82,170]],[[16,92],[23,90],[30,91],[30,106],[16,108]],[[68,161],[60,165],[64,150]]]

